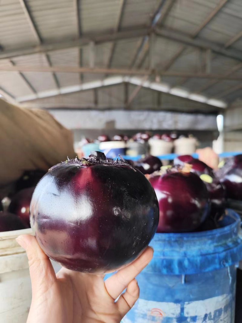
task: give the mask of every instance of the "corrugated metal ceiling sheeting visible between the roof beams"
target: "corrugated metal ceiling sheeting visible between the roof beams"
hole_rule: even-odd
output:
[[[152,21],[158,20],[156,27],[169,28],[185,36],[190,35],[208,43],[212,42],[219,46],[221,50],[223,47],[228,47],[242,53],[242,39],[239,37],[242,26],[241,0],[24,0],[24,2],[35,31],[40,36],[40,42],[44,45],[65,40],[71,42],[79,36],[89,37],[106,33],[112,35],[127,30],[134,32],[137,28],[150,27]],[[169,3],[170,10],[167,10],[166,16],[163,17],[162,10],[166,10],[166,5],[169,5]],[[218,6],[220,7],[217,10]],[[161,17],[157,12],[158,8],[161,8]],[[206,19],[215,10],[217,10],[216,14],[206,22]],[[11,49],[38,45],[33,26],[31,26],[20,0],[0,1],[0,46],[2,53]],[[199,32],[196,33],[197,30]],[[237,35],[235,41],[228,46],[227,42],[230,42]],[[157,71],[166,68],[170,72],[205,73],[207,71],[207,52],[205,49],[187,46],[169,39],[169,37],[160,36],[154,37],[153,45],[149,44],[151,44],[151,41],[149,42],[147,38],[141,36],[124,37],[124,39],[117,39],[115,42],[107,40],[97,43],[94,47],[95,57],[93,61],[90,52],[91,47],[86,45],[81,50],[73,47],[49,51],[48,56],[38,53],[12,57],[11,60],[0,60],[0,66],[7,64],[8,66],[89,67],[94,63],[95,67],[99,68],[110,66],[111,68],[146,69],[151,66]],[[151,46],[153,46],[152,50],[150,50]],[[179,52],[180,55],[178,55]],[[134,65],[132,65],[132,62]],[[231,71],[230,76],[242,77],[242,68],[236,70],[240,63],[241,60],[212,52],[210,72],[225,75]],[[235,69],[233,73],[232,69]],[[53,74],[53,72],[0,71],[0,87],[16,100],[33,94],[37,98],[39,92],[56,90],[58,86],[60,88],[76,86],[85,82],[102,80],[107,76],[108,73],[56,72]],[[237,90],[239,80],[217,80],[214,85],[207,88],[206,85],[211,82],[211,79],[208,78],[164,76],[161,77],[161,81],[167,83],[170,87],[179,86],[195,93],[196,91],[200,93],[200,89],[204,87],[200,94],[209,98],[216,98],[216,95],[221,97],[223,91],[226,93],[228,89],[232,89],[234,86],[235,91],[228,91],[229,93],[222,99],[231,102],[231,100],[236,100],[241,96],[241,90]],[[118,86],[116,87],[118,89]],[[135,89],[135,86],[132,85],[130,89],[133,87]],[[116,90],[114,90],[114,87],[99,89],[99,97],[108,96],[111,98],[111,91]],[[164,95],[162,94],[162,96]],[[83,99],[80,103],[80,97],[85,97],[83,93],[80,95],[77,93],[68,94],[68,98],[71,96],[73,96],[71,104],[74,104],[73,102],[77,100],[74,104],[75,107],[78,104],[82,107],[87,103],[90,104],[89,99]],[[113,96],[115,97],[116,94],[114,93]],[[118,93],[118,96],[123,97],[124,93]],[[152,106],[157,96],[158,93],[153,90],[142,89],[132,102],[131,108],[136,108],[139,104],[146,104],[147,107],[148,105]],[[61,99],[57,100],[56,98],[38,99],[38,102],[40,104],[48,100],[48,102],[60,102]],[[100,105],[103,108],[109,100],[113,102],[114,99],[100,100],[98,106]],[[177,100],[177,97],[174,100]],[[66,99],[64,101],[66,102]],[[91,98],[91,101],[94,102],[94,97]],[[68,102],[66,102],[67,105]],[[194,101],[191,102],[191,104],[195,104]],[[203,103],[200,104],[203,105]],[[51,106],[51,103],[49,105]],[[187,104],[183,108],[187,109]],[[207,105],[204,109],[207,109]]]

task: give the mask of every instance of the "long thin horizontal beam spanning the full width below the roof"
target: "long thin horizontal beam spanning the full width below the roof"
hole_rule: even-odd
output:
[[[93,74],[119,74],[119,75],[160,75],[177,78],[219,78],[226,80],[242,80],[240,76],[228,76],[223,74],[187,73],[175,71],[159,71],[151,69],[124,69],[124,68],[90,68],[75,66],[0,66],[0,71],[17,72],[61,72],[61,73],[93,73]]]

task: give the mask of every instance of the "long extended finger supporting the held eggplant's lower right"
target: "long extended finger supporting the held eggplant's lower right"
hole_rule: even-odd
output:
[[[108,294],[116,299],[128,284],[145,268],[153,257],[153,249],[147,247],[145,251],[130,265],[120,269],[116,274],[105,281]]]

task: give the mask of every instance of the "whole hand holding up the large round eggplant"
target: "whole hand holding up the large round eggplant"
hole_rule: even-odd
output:
[[[147,247],[134,262],[104,281],[104,275],[66,268],[55,274],[34,236],[23,234],[16,240],[29,260],[32,302],[27,323],[120,322],[139,297],[135,277],[153,256],[153,249]]]

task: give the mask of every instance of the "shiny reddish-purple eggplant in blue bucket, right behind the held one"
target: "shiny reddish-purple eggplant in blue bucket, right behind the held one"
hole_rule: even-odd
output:
[[[194,173],[168,172],[150,178],[159,202],[157,232],[195,231],[209,214],[208,191]]]

